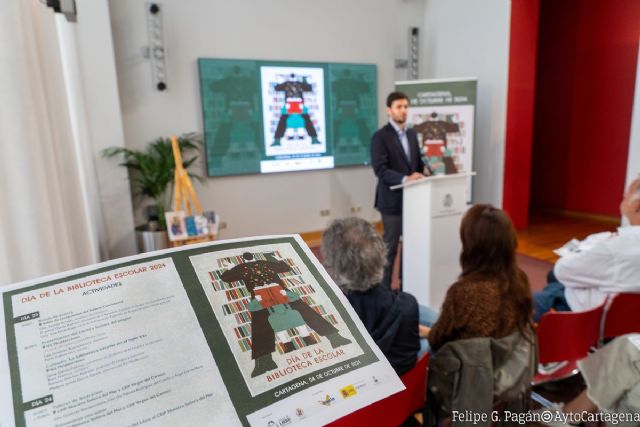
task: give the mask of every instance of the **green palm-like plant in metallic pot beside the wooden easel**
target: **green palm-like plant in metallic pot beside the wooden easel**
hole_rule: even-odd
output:
[[[202,145],[200,135],[187,133],[178,137],[182,153],[182,165],[189,167],[198,158]],[[146,207],[147,223],[136,227],[138,250],[147,252],[168,246],[167,226],[164,213],[170,206],[175,175],[175,161],[170,138],[157,138],[144,151],[124,147],[110,147],[102,154],[107,158],[120,157],[120,163],[129,171],[131,189],[139,200],[151,200]],[[201,180],[198,175],[189,173],[192,179]]]

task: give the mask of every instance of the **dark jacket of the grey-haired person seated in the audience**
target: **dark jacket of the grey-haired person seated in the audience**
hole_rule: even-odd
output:
[[[420,350],[415,297],[377,285],[367,292],[351,291],[347,299],[398,375],[411,370]]]

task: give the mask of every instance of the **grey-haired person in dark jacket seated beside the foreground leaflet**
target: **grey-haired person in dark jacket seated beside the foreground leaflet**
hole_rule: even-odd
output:
[[[418,306],[413,295],[381,286],[386,249],[371,224],[338,219],[322,236],[324,265],[398,375],[427,350],[427,327],[437,314]]]

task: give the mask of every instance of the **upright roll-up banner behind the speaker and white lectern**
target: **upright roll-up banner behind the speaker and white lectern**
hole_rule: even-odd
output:
[[[422,158],[436,175],[473,172],[478,81],[434,79],[396,82],[409,97],[407,121],[416,131]],[[471,201],[471,177],[468,201]]]

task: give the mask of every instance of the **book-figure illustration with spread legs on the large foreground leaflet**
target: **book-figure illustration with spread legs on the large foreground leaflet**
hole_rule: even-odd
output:
[[[294,349],[288,329],[297,328],[307,345],[317,344],[311,330],[326,337],[332,348],[351,342],[299,295],[287,289],[278,276],[291,271],[286,262],[277,260],[273,255],[267,260],[254,260],[249,252],[242,257],[245,262],[225,271],[221,279],[227,283],[242,281],[251,294],[247,308],[251,313],[251,359],[255,361],[252,378],[278,367],[272,357],[276,349],[276,335],[284,343],[286,352]]]

